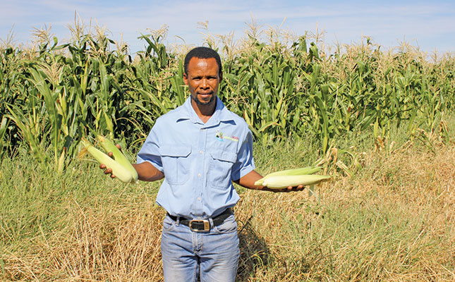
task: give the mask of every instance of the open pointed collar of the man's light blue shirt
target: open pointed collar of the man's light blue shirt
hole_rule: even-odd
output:
[[[195,110],[193,109],[193,106],[191,106],[191,97],[188,97],[185,103],[183,103],[182,115],[177,118],[176,122],[189,119],[193,123],[200,123],[205,126],[212,126],[219,124],[220,121],[233,121],[233,116],[231,115],[231,112],[226,108],[226,106],[224,106],[222,100],[219,99],[218,96],[216,97],[216,99],[217,106],[215,107],[215,111],[213,115],[210,117],[210,119],[207,121],[207,123],[205,124],[202,123],[198,114],[196,114]]]

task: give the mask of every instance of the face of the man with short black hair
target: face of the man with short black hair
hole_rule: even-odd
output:
[[[193,57],[188,63],[188,75],[183,74],[183,81],[188,85],[191,99],[200,105],[215,102],[219,82],[222,76],[218,72],[217,60]]]

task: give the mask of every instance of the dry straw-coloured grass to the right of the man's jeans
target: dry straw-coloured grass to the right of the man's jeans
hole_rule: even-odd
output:
[[[324,183],[320,202],[245,192],[241,280],[454,281],[454,159],[453,146],[372,151],[354,178]]]

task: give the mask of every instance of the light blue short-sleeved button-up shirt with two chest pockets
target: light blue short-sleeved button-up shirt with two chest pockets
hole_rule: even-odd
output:
[[[169,214],[189,219],[217,216],[240,199],[232,180],[255,168],[253,136],[243,118],[218,97],[206,123],[188,97],[157,119],[138,153],[138,164],[144,161],[164,173],[157,204]]]

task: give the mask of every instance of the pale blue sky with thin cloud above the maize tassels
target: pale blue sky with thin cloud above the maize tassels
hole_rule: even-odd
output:
[[[423,51],[455,52],[455,1],[117,1],[0,0],[0,39],[11,30],[16,44],[30,42],[33,27],[51,27],[64,42],[70,37],[75,12],[85,23],[107,27],[109,37],[142,49],[140,33],[169,28],[166,42],[200,45],[198,22],[208,21],[211,33],[236,39],[252,18],[267,27],[295,35],[324,30],[326,45],[359,42],[362,36],[385,49],[408,42]],[[182,38],[178,38],[178,37]]]

